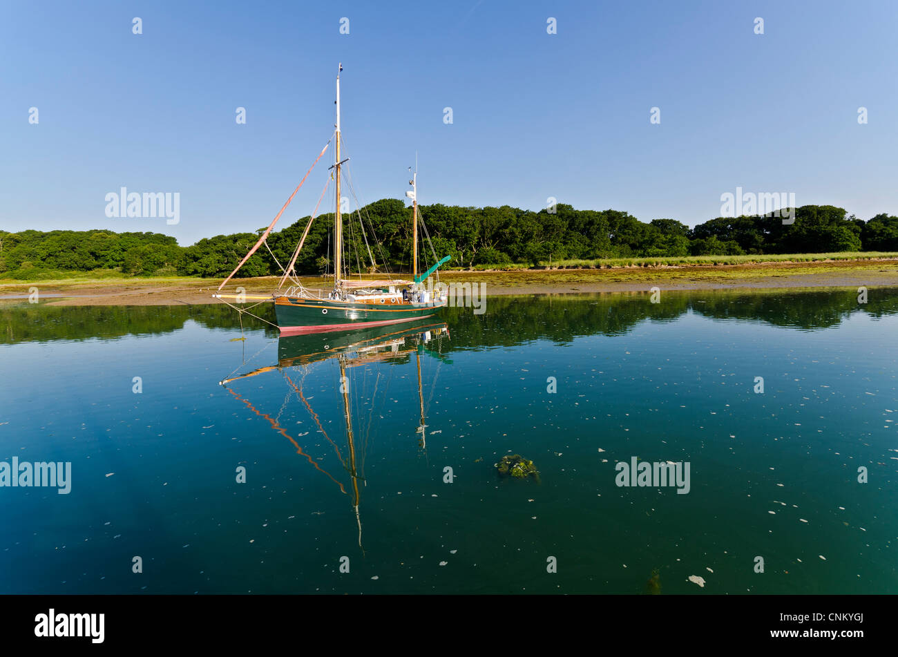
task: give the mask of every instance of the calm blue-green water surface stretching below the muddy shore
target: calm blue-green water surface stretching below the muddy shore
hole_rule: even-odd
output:
[[[69,495],[0,487],[0,592],[898,592],[898,290],[856,296],[490,298],[293,341],[0,306],[0,461],[72,463]],[[616,486],[632,457],[690,492]]]

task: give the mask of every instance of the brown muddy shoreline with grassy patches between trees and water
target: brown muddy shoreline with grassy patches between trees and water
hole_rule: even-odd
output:
[[[277,276],[243,278],[246,293],[271,293]],[[517,269],[447,271],[447,284],[477,283],[488,295],[634,293],[651,287],[665,291],[777,290],[826,287],[898,287],[898,261],[894,259],[772,262],[747,265],[604,267],[583,269]],[[325,286],[322,278],[303,278],[311,288]],[[221,279],[123,278],[74,279],[0,283],[0,302],[27,301],[32,287],[41,305],[53,306],[152,306],[220,303],[216,293]]]

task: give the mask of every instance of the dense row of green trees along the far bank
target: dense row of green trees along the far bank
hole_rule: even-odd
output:
[[[554,212],[510,206],[419,206],[429,241],[422,262],[450,256],[446,267],[540,265],[570,259],[705,255],[898,251],[898,217],[864,221],[841,207],[802,206],[794,223],[779,216],[718,217],[689,228],[675,219],[649,223],[619,210]],[[309,217],[269,235],[238,276],[281,274]],[[333,215],[316,218],[296,260],[300,275],[330,265]],[[346,217],[349,265],[354,271],[409,271],[410,209],[384,198]],[[364,227],[364,231],[362,230]],[[0,231],[0,276],[27,279],[41,270],[118,270],[134,276],[227,276],[259,239],[260,231],[205,238],[182,247],[155,232]],[[423,235],[423,232],[419,232]],[[431,249],[432,245],[432,249]],[[278,265],[279,263],[279,265]]]

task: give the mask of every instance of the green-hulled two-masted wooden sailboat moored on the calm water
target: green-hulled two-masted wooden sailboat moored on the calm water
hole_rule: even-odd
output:
[[[353,275],[348,267],[348,258],[346,258],[343,215],[340,207],[341,192],[341,174],[346,159],[340,159],[341,134],[340,134],[340,96],[339,96],[339,74],[343,70],[343,66],[339,66],[337,73],[337,122],[336,130],[324,146],[318,159],[315,160],[312,167],[306,172],[305,177],[294,190],[294,193],[287,199],[284,207],[277,213],[275,220],[269,225],[268,230],[262,233],[260,240],[241,260],[240,264],[233,270],[230,276],[225,278],[221,285],[218,286],[218,292],[213,296],[217,299],[232,299],[237,302],[274,302],[275,316],[277,318],[277,327],[281,334],[297,335],[304,333],[319,333],[325,331],[340,331],[348,329],[358,329],[365,327],[383,326],[401,321],[418,320],[429,317],[444,308],[447,303],[445,293],[435,294],[432,290],[434,286],[426,287],[424,285],[427,278],[434,274],[438,267],[447,262],[450,257],[439,259],[436,264],[428,268],[426,272],[419,273],[419,257],[418,257],[418,223],[420,216],[418,213],[418,171],[414,171],[412,179],[409,180],[411,189],[406,192],[406,196],[412,201],[411,206],[411,233],[412,233],[412,254],[411,254],[411,280],[402,280],[395,278],[366,278],[361,272]],[[283,276],[281,276],[277,292],[270,296],[251,295],[251,294],[222,294],[221,290],[234,274],[243,266],[250,256],[265,243],[275,223],[286,210],[286,207],[293,200],[296,192],[303,186],[304,181],[312,172],[315,164],[321,160],[321,156],[330,146],[330,141],[334,144],[334,163],[330,167],[333,170],[332,180],[335,187],[335,210],[333,223],[333,287],[330,290],[311,290],[306,288],[295,278],[295,262],[302,250],[309,229],[317,214],[317,206],[315,213],[310,217],[305,227],[302,238],[296,246],[293,258],[286,267],[281,267]],[[329,180],[330,184],[330,180]],[[325,185],[324,191],[321,192],[321,198],[327,191]],[[319,198],[319,205],[321,205]],[[364,233],[364,223],[360,224]],[[429,238],[428,238],[429,240]],[[367,245],[367,237],[365,236],[365,244]],[[270,249],[269,249],[270,250]],[[432,245],[431,245],[431,250]],[[370,247],[368,253],[371,255]],[[330,255],[330,254],[329,254]],[[436,252],[433,252],[436,259]],[[273,254],[272,254],[273,256]],[[372,269],[377,269],[374,263],[374,257],[371,257]],[[279,263],[278,263],[279,264]],[[295,285],[286,287],[287,279]],[[436,288],[439,289],[439,288]],[[236,307],[235,307],[236,308]],[[241,311],[237,308],[236,310]]]

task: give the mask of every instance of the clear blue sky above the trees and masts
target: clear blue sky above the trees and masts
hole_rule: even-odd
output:
[[[189,244],[267,225],[330,137],[340,61],[363,203],[402,197],[417,151],[424,204],[556,197],[694,225],[738,186],[895,215],[896,31],[892,0],[6,0],[0,228]],[[279,227],[311,213],[330,163]],[[180,223],[108,218],[121,187],[179,192]]]

